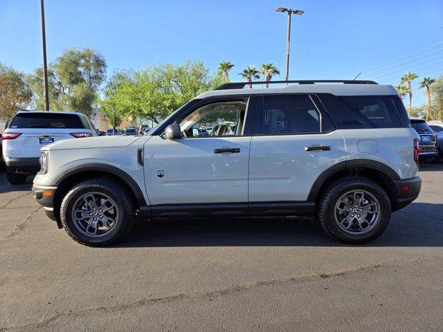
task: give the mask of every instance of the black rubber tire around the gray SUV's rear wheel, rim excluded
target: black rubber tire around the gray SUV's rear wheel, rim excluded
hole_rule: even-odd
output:
[[[352,190],[369,192],[379,203],[379,219],[374,223],[372,229],[369,229],[364,234],[350,234],[343,230],[338,225],[338,221],[336,221],[336,203],[344,194],[352,192]],[[323,230],[331,237],[334,237],[334,239],[344,243],[363,244],[377,239],[390,221],[391,205],[388,195],[382,187],[368,178],[352,176],[332,183],[323,192],[319,203],[318,219],[320,219],[320,225],[323,227]],[[352,221],[352,223],[356,223],[356,221]]]

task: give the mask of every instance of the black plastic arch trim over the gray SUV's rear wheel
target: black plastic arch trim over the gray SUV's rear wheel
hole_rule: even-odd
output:
[[[318,194],[320,194],[321,187],[326,183],[326,181],[334,174],[345,171],[346,169],[353,168],[365,168],[365,169],[373,169],[374,171],[381,172],[388,176],[392,181],[399,180],[399,174],[395,172],[394,169],[389,167],[386,164],[383,164],[376,160],[370,159],[351,159],[341,161],[340,163],[336,163],[326,169],[314,182],[314,185],[311,187],[311,191],[307,197],[307,201],[316,201]]]

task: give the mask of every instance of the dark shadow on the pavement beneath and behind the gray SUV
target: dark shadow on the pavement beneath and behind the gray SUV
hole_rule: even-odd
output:
[[[392,214],[379,239],[362,246],[443,246],[443,204],[412,203]],[[349,246],[328,237],[318,222],[296,218],[139,221],[116,247]]]

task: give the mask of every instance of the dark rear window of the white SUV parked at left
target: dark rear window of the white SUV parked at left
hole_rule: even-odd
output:
[[[19,113],[9,128],[84,129],[84,123],[76,114]]]

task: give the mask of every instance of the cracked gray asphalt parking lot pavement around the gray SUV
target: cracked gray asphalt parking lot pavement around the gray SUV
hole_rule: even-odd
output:
[[[0,174],[0,331],[442,331],[443,163],[386,232],[298,219],[138,223],[87,248]]]

